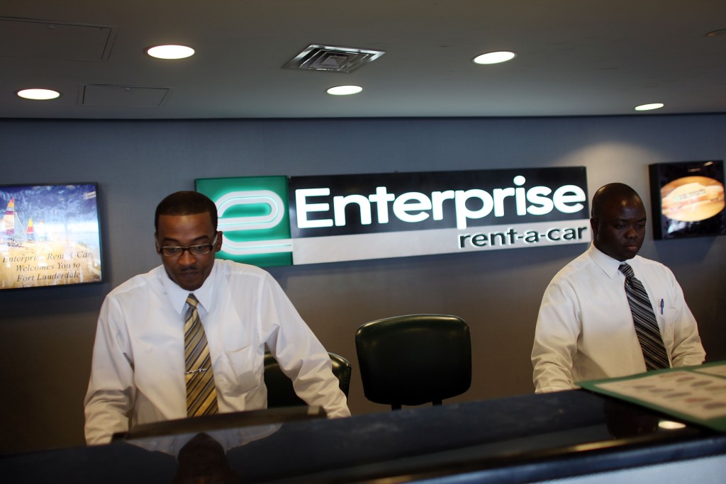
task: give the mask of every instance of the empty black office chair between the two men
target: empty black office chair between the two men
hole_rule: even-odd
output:
[[[412,314],[379,319],[356,331],[366,398],[390,405],[441,405],[471,385],[471,337],[457,316]]]

